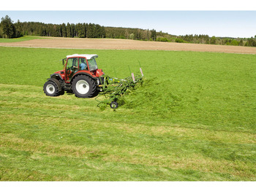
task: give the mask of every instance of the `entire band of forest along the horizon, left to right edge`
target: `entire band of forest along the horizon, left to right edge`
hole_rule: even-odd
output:
[[[39,22],[20,22],[19,20],[17,23],[13,23],[8,15],[1,18],[0,38],[18,38],[20,36],[28,35],[70,38],[134,39],[158,42],[223,44],[256,47],[256,35],[255,38],[210,37],[205,34],[177,36],[162,31],[156,31],[155,29],[107,27],[94,23],[45,24]]]

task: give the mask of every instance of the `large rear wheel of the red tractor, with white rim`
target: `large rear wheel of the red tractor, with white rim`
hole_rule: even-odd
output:
[[[94,79],[86,75],[79,75],[72,81],[72,90],[78,98],[93,97],[96,87]]]

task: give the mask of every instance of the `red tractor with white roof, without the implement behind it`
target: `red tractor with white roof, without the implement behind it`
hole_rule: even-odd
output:
[[[64,69],[50,75],[44,92],[48,96],[63,95],[72,91],[78,98],[91,98],[102,83],[102,69],[98,69],[98,55],[67,55],[62,60]]]

